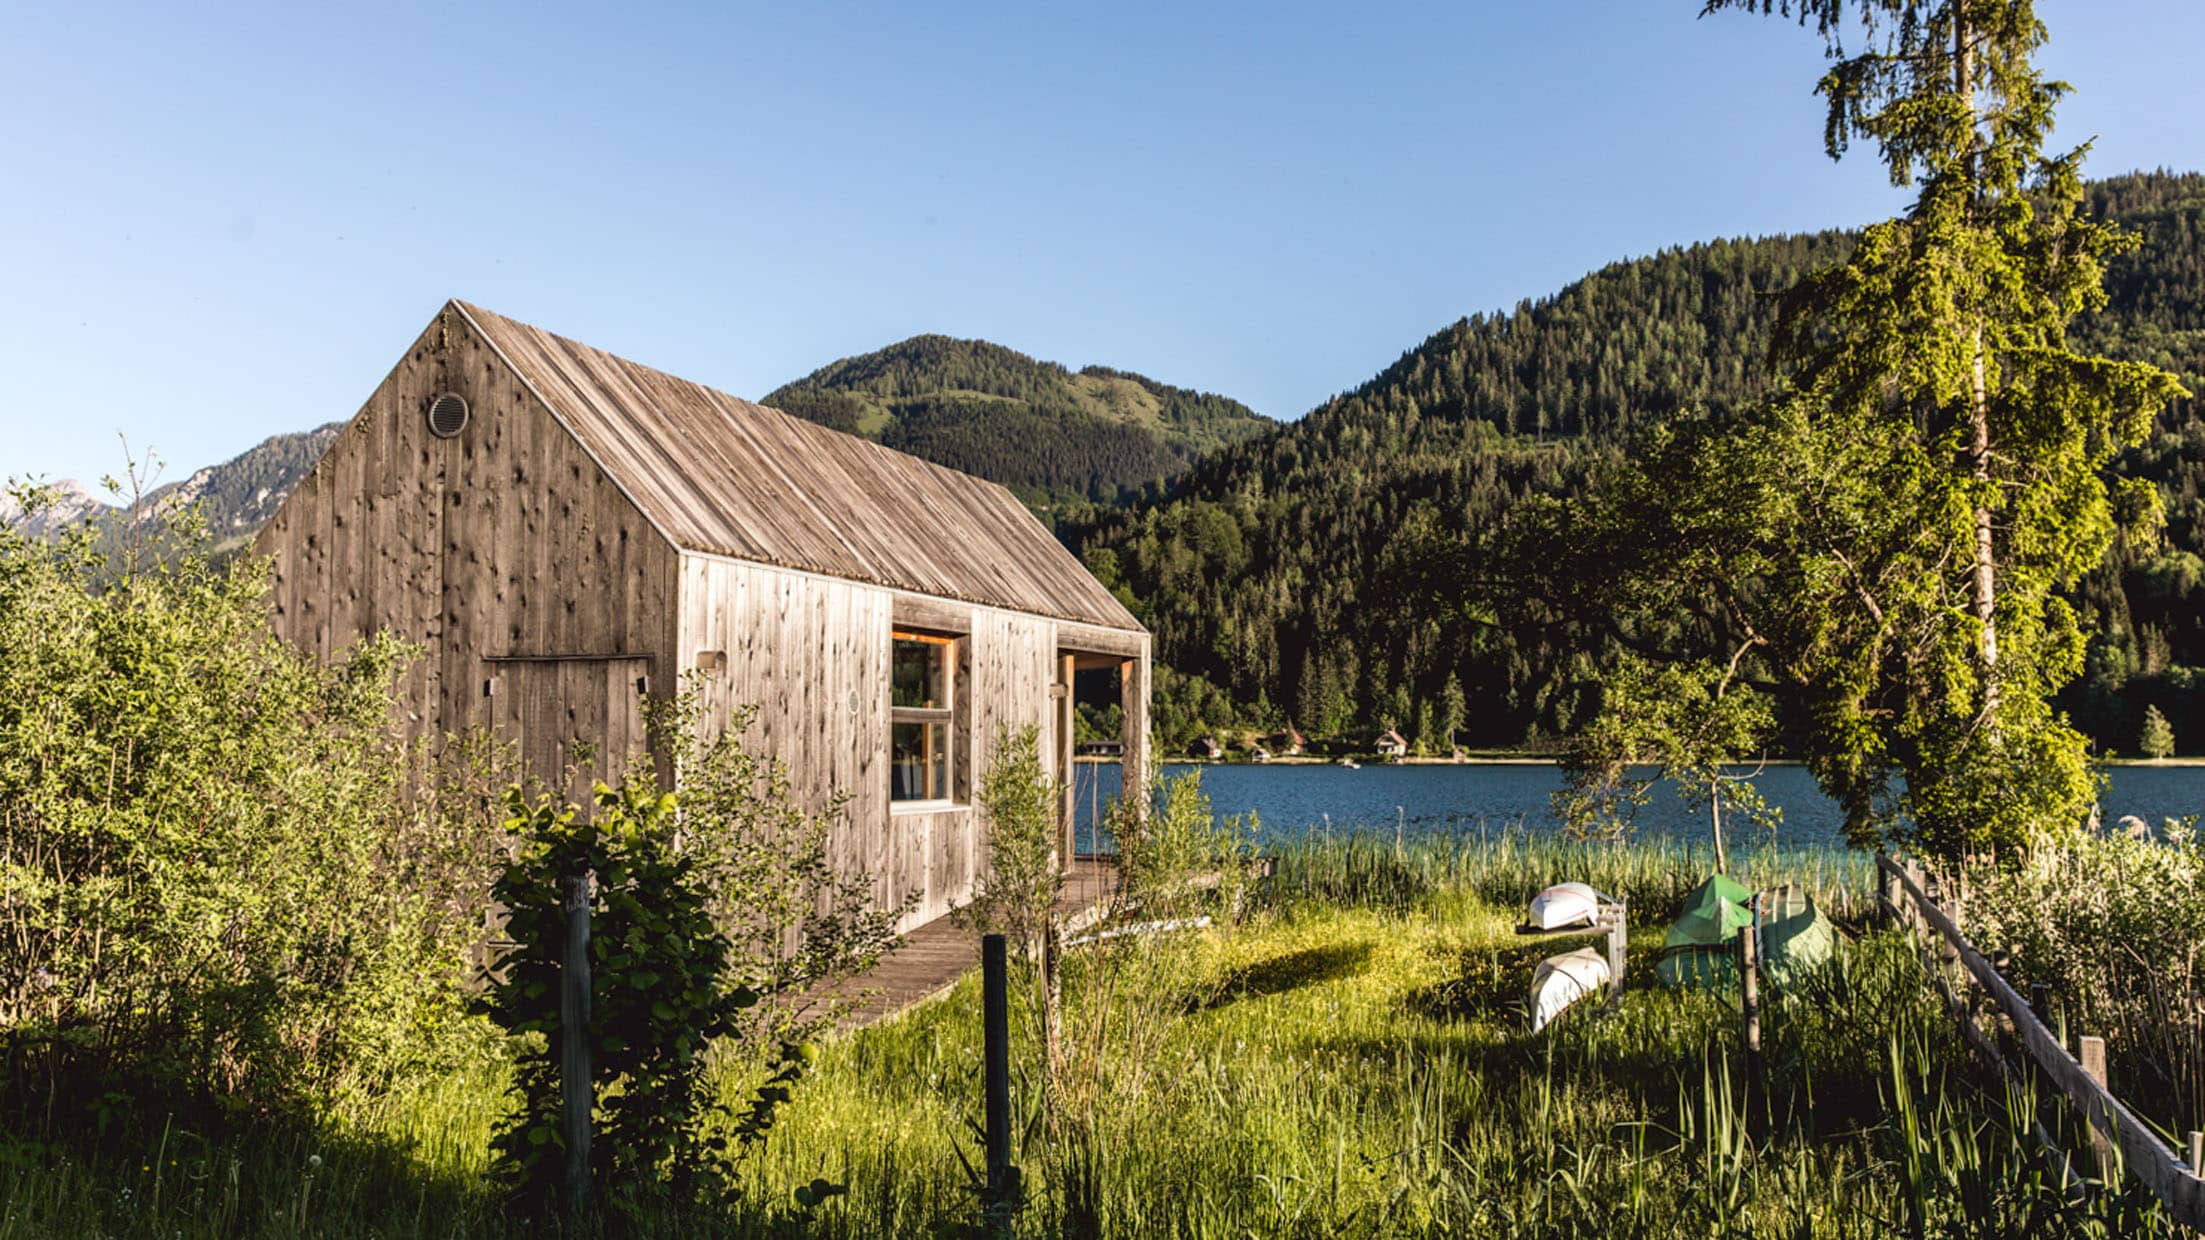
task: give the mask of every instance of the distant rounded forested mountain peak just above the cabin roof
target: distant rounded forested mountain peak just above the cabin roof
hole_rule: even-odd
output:
[[[1162,490],[1204,452],[1272,426],[1222,395],[948,335],[820,366],[761,404],[999,481],[1043,510]]]

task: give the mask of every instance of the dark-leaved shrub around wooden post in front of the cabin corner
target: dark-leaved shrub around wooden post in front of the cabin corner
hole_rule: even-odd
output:
[[[516,1052],[516,1110],[496,1139],[516,1196],[542,1209],[560,1187],[562,880],[593,874],[589,1048],[595,1083],[591,1178],[611,1202],[710,1202],[772,1125],[811,1061],[809,1037],[849,1004],[836,982],[895,947],[902,909],[833,865],[840,801],[794,803],[787,768],[752,752],[754,708],[703,724],[703,684],[650,708],[655,748],[593,816],[509,799],[518,856],[496,883],[509,909],[485,1002]],[[730,1088],[732,1081],[747,1081]],[[840,1191],[816,1180],[803,1209]]]

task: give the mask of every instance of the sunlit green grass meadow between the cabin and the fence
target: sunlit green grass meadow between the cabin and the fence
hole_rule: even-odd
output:
[[[1023,1207],[983,1218],[979,984],[831,1039],[743,1194],[564,1231],[650,1236],[2119,1236],[2132,1194],[2064,1189],[2033,1103],[1969,1068],[1854,854],[1744,858],[1839,911],[1839,962],[1768,1006],[1749,1105],[1735,997],[1654,984],[1707,860],[1656,845],[1314,841],[1241,918],[1067,958],[1047,1066],[1014,988]],[[1629,986],[1526,1033],[1521,900],[1627,896]],[[1594,942],[1594,940],[1583,940]],[[725,1088],[747,1090],[741,1066]],[[0,1163],[20,1236],[523,1236],[485,1180],[494,1063],[337,1121],[225,1136],[117,1123]],[[827,1180],[847,1191],[798,1205]]]

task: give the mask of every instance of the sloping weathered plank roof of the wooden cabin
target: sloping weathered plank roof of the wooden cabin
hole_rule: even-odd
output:
[[[997,483],[452,307],[686,552],[1140,629]]]

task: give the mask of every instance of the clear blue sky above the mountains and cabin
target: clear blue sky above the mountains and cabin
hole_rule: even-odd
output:
[[[1861,223],[1821,44],[1566,4],[13,4],[0,477],[348,417],[450,296],[739,395],[922,331],[1297,417],[1612,258]],[[2205,4],[2040,0],[2090,170]]]

